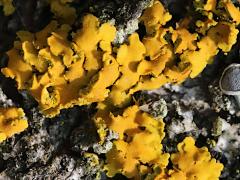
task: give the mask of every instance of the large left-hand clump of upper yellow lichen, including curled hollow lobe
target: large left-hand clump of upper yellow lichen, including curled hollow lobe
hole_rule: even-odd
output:
[[[2,72],[16,79],[19,89],[30,90],[49,117],[63,108],[103,101],[109,93],[107,88],[119,76],[118,63],[111,56],[115,28],[109,24],[100,26],[92,15],[85,16],[83,22],[86,26],[96,22],[98,26],[84,27],[84,31],[76,33],[76,44],[67,40],[68,25],[58,28],[52,21],[36,34],[18,33],[22,45],[8,52],[8,67]],[[93,44],[89,45],[86,38]]]

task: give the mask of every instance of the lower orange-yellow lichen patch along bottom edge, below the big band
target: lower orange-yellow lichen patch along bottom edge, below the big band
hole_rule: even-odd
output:
[[[173,169],[167,169],[169,154],[162,150],[164,123],[139,110],[128,107],[121,115],[99,111],[97,121],[103,119],[107,127],[119,135],[106,154],[105,170],[109,177],[121,173],[128,178],[156,180],[217,180],[223,165],[212,158],[207,147],[198,148],[192,137],[178,144],[171,154]],[[206,173],[208,172],[208,173]]]

